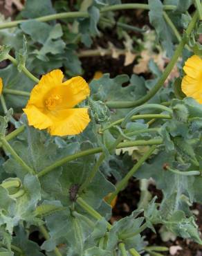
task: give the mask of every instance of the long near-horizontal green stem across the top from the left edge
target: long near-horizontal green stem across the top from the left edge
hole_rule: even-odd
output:
[[[101,9],[101,12],[109,12],[111,10],[125,10],[125,9],[143,9],[143,10],[149,10],[149,6],[147,4],[143,3],[123,3],[123,4],[118,4],[114,6],[107,6]],[[175,10],[176,6],[163,6],[164,10]],[[43,17],[39,17],[33,20],[37,21],[42,21],[42,22],[47,22],[47,21],[52,21],[55,19],[68,19],[68,18],[85,18],[89,17],[88,12],[61,12],[57,13],[55,15],[46,15]],[[29,21],[29,19],[21,19],[18,21],[10,21],[6,22],[3,24],[0,24],[0,29],[5,29],[5,28],[13,28],[22,22]]]

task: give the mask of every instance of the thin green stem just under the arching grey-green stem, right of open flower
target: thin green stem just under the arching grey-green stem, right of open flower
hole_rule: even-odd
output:
[[[145,115],[136,115],[136,116],[131,116],[130,120],[138,120],[138,119],[146,119],[146,118],[162,118],[162,119],[171,119],[172,117],[169,115],[163,115],[163,114],[145,114]],[[122,121],[125,118],[121,118],[119,120],[116,120],[115,122],[111,122],[110,125],[108,125],[107,127],[104,127],[103,129],[100,129],[100,131],[105,131],[115,125],[119,125],[120,123],[122,123]]]

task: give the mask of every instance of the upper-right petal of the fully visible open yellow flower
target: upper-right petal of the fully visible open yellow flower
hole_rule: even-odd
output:
[[[68,102],[66,107],[68,108],[75,107],[75,105],[82,102],[82,100],[85,100],[90,95],[89,84],[80,76],[65,81],[62,86],[60,86],[60,89],[63,90],[62,94],[66,96],[66,103]]]

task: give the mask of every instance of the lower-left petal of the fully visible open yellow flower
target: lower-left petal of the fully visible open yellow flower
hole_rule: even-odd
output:
[[[33,105],[28,106],[23,111],[28,118],[28,124],[35,128],[46,129],[53,125],[53,121]]]

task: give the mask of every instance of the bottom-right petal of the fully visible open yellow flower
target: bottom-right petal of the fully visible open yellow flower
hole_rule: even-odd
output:
[[[90,122],[87,108],[64,109],[52,116],[50,135],[66,136],[80,134]]]

